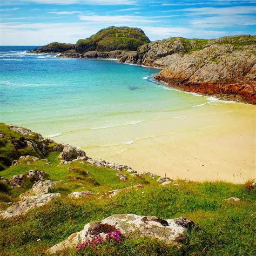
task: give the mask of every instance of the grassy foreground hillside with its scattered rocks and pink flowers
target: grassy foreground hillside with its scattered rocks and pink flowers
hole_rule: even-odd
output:
[[[0,143],[2,255],[255,253],[252,181],[137,173],[14,125]]]

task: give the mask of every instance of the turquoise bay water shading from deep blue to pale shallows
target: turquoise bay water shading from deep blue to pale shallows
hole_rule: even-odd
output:
[[[115,137],[111,127],[177,116],[181,110],[208,102],[153,82],[159,69],[114,60],[30,55],[26,53],[30,49],[33,46],[0,48],[0,120],[43,136],[61,140],[71,134],[72,143],[72,134],[77,139],[80,133],[83,143],[75,144],[102,145],[109,142],[99,139],[98,129],[107,129],[105,137]],[[129,142],[132,135],[136,137],[119,137]]]

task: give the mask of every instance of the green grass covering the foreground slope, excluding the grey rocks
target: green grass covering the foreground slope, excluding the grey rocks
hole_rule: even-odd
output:
[[[0,176],[10,178],[27,170],[41,169],[49,173],[49,179],[64,181],[54,191],[61,193],[61,198],[23,216],[1,220],[0,251],[3,255],[41,254],[71,233],[82,230],[86,223],[116,213],[156,215],[163,219],[186,216],[197,225],[180,248],[165,246],[152,239],[130,237],[114,246],[104,244],[90,249],[86,252],[88,255],[102,254],[103,250],[114,255],[255,254],[255,191],[247,190],[244,185],[179,181],[179,186],[164,187],[149,176],[144,176],[146,180],[129,177],[127,181],[120,181],[116,171],[89,164],[72,164],[77,171],[68,171],[70,165],[58,166],[58,154],[51,152],[46,157],[52,165],[40,160],[0,172]],[[87,174],[87,171],[90,173]],[[109,190],[140,183],[144,184],[144,188],[123,192],[113,199],[98,199]],[[15,201],[28,188],[9,188],[9,192],[1,194]],[[84,190],[93,191],[93,196],[72,200],[66,197],[70,192]],[[225,200],[232,196],[242,201],[232,203]],[[67,252],[69,255],[72,253]]]

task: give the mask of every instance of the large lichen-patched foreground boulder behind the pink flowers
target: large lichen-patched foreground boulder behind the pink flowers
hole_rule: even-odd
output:
[[[151,237],[165,244],[183,242],[193,221],[181,217],[178,219],[159,219],[154,216],[139,216],[135,214],[114,214],[102,221],[88,223],[80,232],[74,233],[68,239],[49,248],[46,253],[57,253],[68,248],[75,248],[95,235],[105,237],[107,233],[119,231],[124,237]]]

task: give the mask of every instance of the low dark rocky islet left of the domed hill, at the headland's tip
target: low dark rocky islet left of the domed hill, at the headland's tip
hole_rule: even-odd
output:
[[[33,51],[29,51],[29,53],[60,53],[60,52],[64,52],[64,51],[68,51],[71,49],[75,49],[75,44],[65,44],[65,43],[50,43],[50,44],[46,44],[44,46],[39,46],[36,49],[34,49]]]

